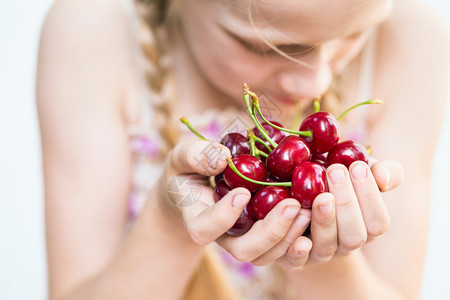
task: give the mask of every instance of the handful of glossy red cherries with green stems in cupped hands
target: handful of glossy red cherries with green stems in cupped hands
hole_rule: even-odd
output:
[[[379,99],[361,102],[336,118],[320,111],[320,103],[315,100],[314,113],[306,117],[296,131],[267,120],[258,97],[246,84],[243,93],[255,127],[247,130],[247,136],[232,132],[222,138],[220,143],[230,149],[231,157],[227,158],[225,170],[215,177],[214,187],[216,202],[237,187],[252,193],[252,199],[227,231],[233,236],[246,233],[254,222],[263,219],[286,198],[295,198],[302,208],[311,208],[317,195],[328,191],[325,170],[329,165],[339,163],[348,168],[357,160],[368,163],[369,154],[364,146],[352,140],[339,142],[338,121],[357,106],[383,103]],[[185,118],[181,121],[206,140]]]

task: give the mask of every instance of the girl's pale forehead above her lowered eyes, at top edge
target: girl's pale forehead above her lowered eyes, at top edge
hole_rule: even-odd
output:
[[[272,42],[320,43],[370,28],[390,13],[391,0],[218,0],[212,1],[222,25]],[[234,27],[234,28],[233,28]],[[280,41],[278,41],[280,40]]]

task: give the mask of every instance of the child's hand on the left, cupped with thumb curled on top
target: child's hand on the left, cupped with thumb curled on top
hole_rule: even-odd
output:
[[[297,200],[285,199],[246,234],[239,237],[224,234],[236,222],[251,197],[248,190],[236,188],[214,203],[208,176],[225,169],[225,158],[230,156],[228,148],[218,143],[196,141],[179,144],[168,156],[163,175],[169,195],[165,199],[179,213],[195,243],[206,245],[217,240],[240,261],[273,262],[283,256],[304,232],[310,222],[309,210],[300,212]]]

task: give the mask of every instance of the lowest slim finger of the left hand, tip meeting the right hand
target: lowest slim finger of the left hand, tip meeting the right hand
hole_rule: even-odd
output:
[[[281,242],[260,257],[253,260],[252,263],[257,266],[265,266],[285,255],[289,247],[291,247],[295,240],[302,235],[306,227],[308,227],[310,221],[311,210],[306,208],[300,209],[299,215],[296,217],[294,223]]]

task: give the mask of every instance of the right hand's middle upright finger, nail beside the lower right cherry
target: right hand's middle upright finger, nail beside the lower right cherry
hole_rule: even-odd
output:
[[[336,203],[337,253],[347,254],[364,245],[367,240],[366,226],[347,168],[341,164],[331,165],[327,169],[327,178]]]

